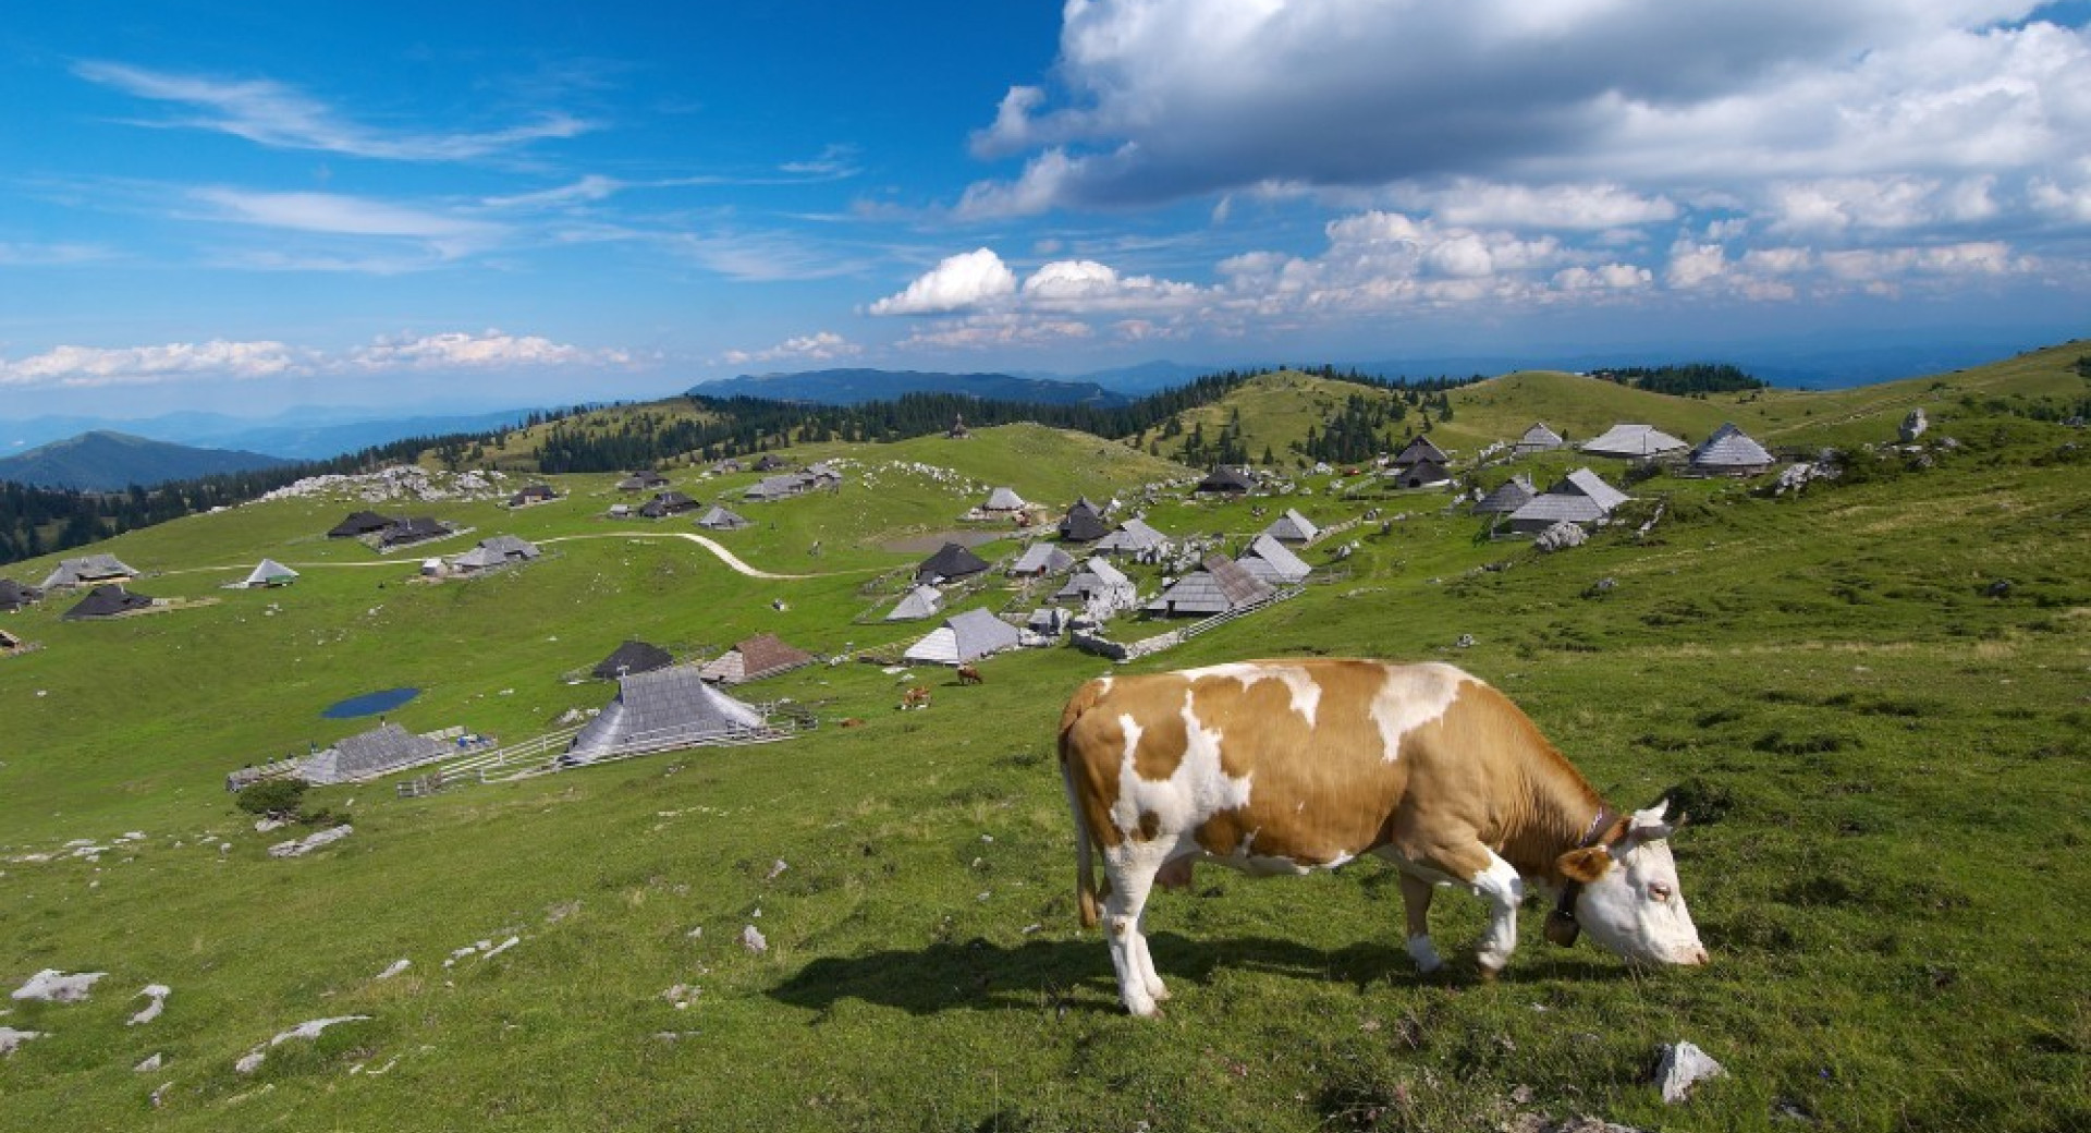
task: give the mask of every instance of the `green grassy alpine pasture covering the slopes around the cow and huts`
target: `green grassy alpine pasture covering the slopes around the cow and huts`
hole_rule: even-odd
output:
[[[123,535],[94,550],[144,571],[138,589],[217,602],[67,623],[71,600],[50,596],[0,619],[42,646],[0,658],[0,978],[107,972],[82,1003],[0,1005],[0,1026],[40,1033],[0,1058],[0,1127],[2091,1125],[2091,437],[2028,416],[2085,395],[2083,353],[1842,393],[1673,399],[1566,374],[1453,391],[1432,437],[1460,470],[1533,420],[1575,439],[1612,420],[1700,439],[1736,420],[1767,445],[1855,447],[1892,441],[1922,403],[1928,439],[1957,441],[1924,468],[1857,458],[1786,498],[1756,493],[1763,479],[1658,475],[1629,485],[1627,521],[1552,556],[1483,537],[1445,491],[1345,470],[1301,477],[1311,493],[1167,491],[1148,508],[1230,552],[1286,506],[1317,523],[1376,508],[1303,552],[1334,581],[1123,669],[1455,661],[1612,805],[1669,794],[1692,813],[1675,849],[1704,970],[1556,949],[1535,899],[1518,955],[1480,982],[1483,907],[1447,893],[1449,964],[1422,978],[1391,870],[1204,868],[1150,905],[1167,1018],[1123,1016],[1102,941],[1077,928],[1054,761],[1066,694],[1112,667],[1071,648],[995,656],[979,686],[845,661],[740,688],[820,719],[780,744],[424,799],[316,788],[307,807],[353,834],[299,859],[266,849],[324,826],[257,834],[224,790],[245,763],[368,727],[320,709],[381,688],[422,690],[391,713],[412,730],[548,732],[608,702],[611,684],[567,677],[627,638],[677,658],[761,631],[897,656],[935,621],[876,619],[922,558],[895,541],[960,529],[993,485],[1054,508],[1188,487],[1194,470],[1146,447],[1035,426],[807,445],[788,456],[841,460],[843,489],[746,506],[755,472],[667,470],[755,521],[707,535],[797,579],[734,573],[680,537],[694,514],[604,518],[642,500],[615,475],[554,477],[562,500],[514,512],[280,500]],[[1317,399],[1353,391],[1278,376],[1198,412],[1211,433],[1240,408],[1250,452],[1282,452]],[[1581,464],[1549,454],[1468,481],[1529,470],[1545,487]],[[1621,466],[1595,468],[1618,483]],[[385,558],[322,537],[364,506],[473,533]],[[422,556],[496,533],[546,554],[410,581]],[[222,589],[263,556],[297,583]],[[52,562],[0,573],[33,585]],[[1158,575],[1140,583],[1152,596]],[[997,577],[951,610],[1006,600]],[[895,711],[903,684],[928,684],[933,707]],[[171,989],[165,1014],[128,1026],[146,985]],[[234,1068],[343,1016],[368,1018]],[[1650,1085],[1675,1041],[1727,1068],[1677,1108]],[[159,1066],[134,1070],[148,1056]]]

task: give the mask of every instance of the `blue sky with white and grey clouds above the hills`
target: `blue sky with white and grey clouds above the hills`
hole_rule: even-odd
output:
[[[46,4],[0,416],[2091,309],[2091,4]]]

